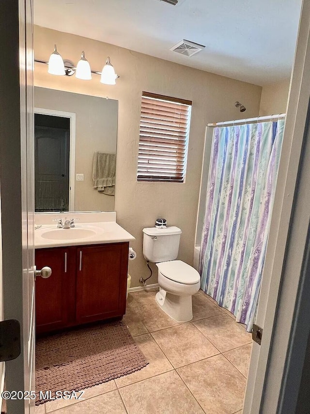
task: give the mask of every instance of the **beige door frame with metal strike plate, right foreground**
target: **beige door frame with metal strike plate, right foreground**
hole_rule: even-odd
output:
[[[253,343],[244,414],[279,413],[282,381],[285,379],[286,352],[294,326],[295,303],[301,275],[302,256],[308,231],[305,212],[299,217],[299,243],[295,245],[294,273],[287,274],[287,247],[292,234],[291,215],[294,193],[306,132],[310,99],[310,1],[301,9],[289,100],[283,136],[279,175],[263,269],[256,323],[263,328],[261,346]],[[309,182],[309,179],[308,179]],[[306,192],[305,198],[308,196]],[[294,204],[293,204],[294,202]],[[305,208],[309,208],[309,202]],[[299,226],[300,227],[300,226]],[[298,251],[297,251],[298,250]],[[286,300],[282,315],[278,310]],[[288,299],[289,298],[289,299]],[[300,339],[300,338],[299,338]],[[308,338],[307,338],[308,339]]]

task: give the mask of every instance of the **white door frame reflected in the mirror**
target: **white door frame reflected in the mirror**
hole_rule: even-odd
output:
[[[69,211],[74,211],[75,197],[75,174],[76,174],[76,114],[74,112],[63,112],[56,109],[34,108],[35,114],[59,116],[70,118],[70,153],[69,153]]]

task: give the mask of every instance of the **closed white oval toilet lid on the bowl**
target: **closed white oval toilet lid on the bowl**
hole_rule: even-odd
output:
[[[171,281],[184,284],[195,284],[200,282],[200,274],[197,270],[181,260],[156,263],[156,266],[160,273]]]

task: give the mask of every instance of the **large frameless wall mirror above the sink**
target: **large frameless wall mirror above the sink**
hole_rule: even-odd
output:
[[[34,88],[35,211],[113,211],[118,101]]]

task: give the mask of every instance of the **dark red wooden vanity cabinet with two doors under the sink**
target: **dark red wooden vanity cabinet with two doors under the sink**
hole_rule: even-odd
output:
[[[122,317],[126,309],[129,243],[36,249],[37,333]]]

